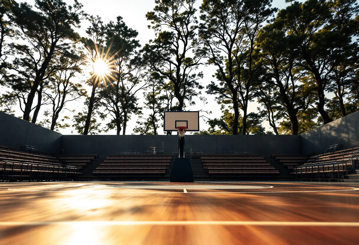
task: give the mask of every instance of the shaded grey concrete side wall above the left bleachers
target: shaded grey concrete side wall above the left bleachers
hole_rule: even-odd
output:
[[[36,146],[41,152],[58,154],[62,134],[0,112],[0,144],[15,148]]]

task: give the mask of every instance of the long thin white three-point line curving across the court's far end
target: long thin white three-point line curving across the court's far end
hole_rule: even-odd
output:
[[[225,193],[225,194],[232,194],[232,193],[247,193],[247,194],[256,194],[256,193],[298,193],[298,192],[338,192],[338,191],[359,191],[359,188],[354,187],[346,187],[351,189],[346,190],[329,190],[329,191],[241,191],[241,192],[186,192],[190,194],[218,194],[218,193]],[[71,193],[73,191],[42,191],[42,190],[27,190],[27,189],[13,189],[9,188],[9,191],[32,191],[32,192],[67,192]],[[83,191],[82,193],[90,193],[96,194],[96,191]],[[155,194],[169,194],[169,193],[185,193],[185,192],[130,192],[130,191],[101,191],[99,193],[155,193]]]

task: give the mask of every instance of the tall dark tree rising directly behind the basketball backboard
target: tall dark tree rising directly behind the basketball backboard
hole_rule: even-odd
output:
[[[155,0],[157,5],[154,11],[146,14],[157,38],[144,46],[143,58],[150,69],[173,83],[178,111],[183,110],[185,99],[191,101],[193,96],[200,94],[197,89],[203,88],[198,82],[203,74],[195,73],[201,56],[191,54],[200,45],[196,38],[198,21],[195,2],[196,0]]]

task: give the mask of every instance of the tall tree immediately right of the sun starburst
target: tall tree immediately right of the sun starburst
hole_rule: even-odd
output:
[[[125,24],[121,16],[116,23],[110,22],[106,28],[106,45],[113,54],[110,59],[113,72],[110,76],[111,84],[104,87],[101,96],[102,105],[111,114],[109,128],[116,128],[117,134],[126,134],[127,121],[130,114],[139,115],[136,93],[147,86],[143,80],[145,66],[137,54],[140,47],[136,40],[138,33]]]

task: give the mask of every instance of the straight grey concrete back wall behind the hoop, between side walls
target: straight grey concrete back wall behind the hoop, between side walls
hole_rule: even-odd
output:
[[[299,135],[186,135],[186,147],[204,153],[254,152],[269,156],[272,153],[300,154]],[[177,153],[177,135],[64,135],[61,149],[64,154],[144,153],[145,148],[161,147],[164,153]]]

